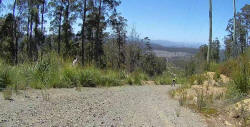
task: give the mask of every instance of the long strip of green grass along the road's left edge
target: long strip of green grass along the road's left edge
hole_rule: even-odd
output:
[[[35,63],[11,66],[0,61],[0,90],[26,88],[110,87],[125,84],[142,85],[149,80],[143,72],[100,69],[95,66],[72,66],[72,60],[63,60],[49,53]]]

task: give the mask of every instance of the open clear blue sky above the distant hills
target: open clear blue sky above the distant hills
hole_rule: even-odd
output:
[[[240,11],[250,0],[236,0]],[[141,37],[175,42],[208,42],[209,0],[122,0],[119,7]],[[233,0],[213,0],[213,39],[223,39],[233,17]]]

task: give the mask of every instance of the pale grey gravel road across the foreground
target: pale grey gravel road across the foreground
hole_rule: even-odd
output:
[[[207,127],[169,97],[170,86],[81,89],[50,89],[49,101],[40,90],[22,91],[12,101],[0,96],[0,127]]]

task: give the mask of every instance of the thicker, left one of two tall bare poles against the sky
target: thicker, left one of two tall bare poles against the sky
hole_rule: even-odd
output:
[[[213,34],[213,13],[212,13],[212,0],[209,0],[209,43],[207,49],[207,63],[210,62],[210,45],[212,43],[212,34]]]

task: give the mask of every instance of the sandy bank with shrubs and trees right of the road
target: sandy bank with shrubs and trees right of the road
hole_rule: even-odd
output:
[[[216,118],[224,119],[221,122],[228,126],[250,126],[249,7],[245,5],[236,16],[237,44],[232,40],[233,22],[230,19],[224,53],[220,53],[220,41],[214,40],[210,44],[208,63],[208,46],[202,45],[184,67],[186,82],[170,92],[181,106],[204,114],[208,121]]]

